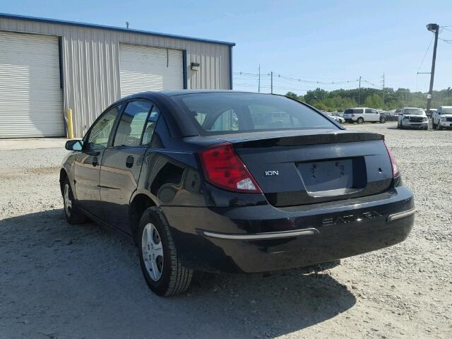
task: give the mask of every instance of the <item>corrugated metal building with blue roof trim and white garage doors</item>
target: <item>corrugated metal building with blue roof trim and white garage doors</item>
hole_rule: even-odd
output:
[[[0,13],[0,138],[74,134],[143,90],[232,89],[232,42]],[[199,64],[198,66],[196,64]]]

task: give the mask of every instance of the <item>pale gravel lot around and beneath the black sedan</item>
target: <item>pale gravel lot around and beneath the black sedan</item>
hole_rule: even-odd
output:
[[[66,224],[63,149],[0,151],[0,338],[452,338],[452,132],[383,133],[415,193],[410,237],[323,273],[200,275],[162,299],[129,241]]]

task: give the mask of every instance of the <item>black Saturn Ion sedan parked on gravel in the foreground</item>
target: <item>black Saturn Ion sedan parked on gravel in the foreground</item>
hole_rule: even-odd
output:
[[[131,95],[66,149],[68,222],[131,237],[157,295],[184,292],[194,270],[265,272],[381,249],[414,222],[383,136],[279,95]]]

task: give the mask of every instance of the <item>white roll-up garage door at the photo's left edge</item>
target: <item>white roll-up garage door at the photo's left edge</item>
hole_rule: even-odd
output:
[[[64,136],[57,37],[0,32],[0,138]]]

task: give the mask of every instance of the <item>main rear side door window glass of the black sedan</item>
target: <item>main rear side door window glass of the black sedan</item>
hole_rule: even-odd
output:
[[[139,146],[146,119],[152,105],[148,101],[137,100],[127,104],[121,115],[113,146]]]

